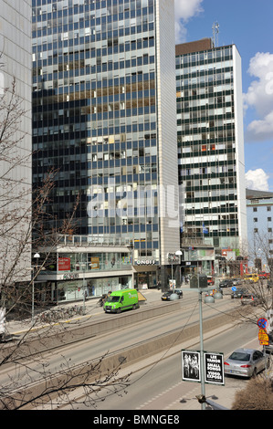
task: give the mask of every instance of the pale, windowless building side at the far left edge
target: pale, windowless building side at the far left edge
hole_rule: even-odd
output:
[[[5,288],[31,274],[31,1],[0,0],[0,23],[0,288]]]

